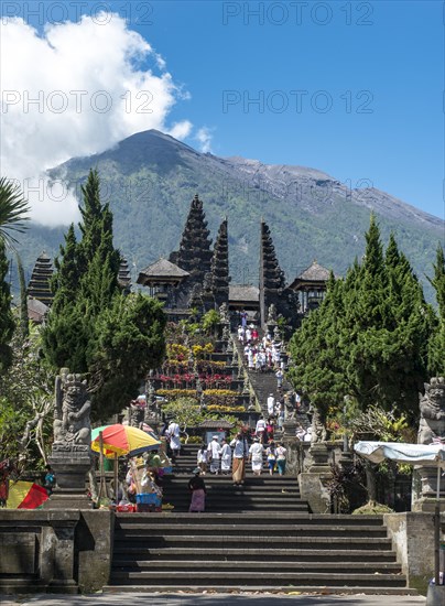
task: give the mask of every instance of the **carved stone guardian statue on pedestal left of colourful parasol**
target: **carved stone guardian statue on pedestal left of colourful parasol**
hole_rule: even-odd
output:
[[[80,375],[68,374],[67,368],[62,369],[55,380],[54,443],[89,446],[90,410],[87,381]]]

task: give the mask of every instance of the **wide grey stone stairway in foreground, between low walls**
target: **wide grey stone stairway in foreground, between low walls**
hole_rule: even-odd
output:
[[[410,594],[379,516],[120,513],[106,592]]]

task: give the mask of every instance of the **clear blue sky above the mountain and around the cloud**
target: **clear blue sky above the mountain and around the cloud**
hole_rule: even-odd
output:
[[[61,2],[12,4],[40,32],[62,18]],[[91,14],[99,2],[83,4]],[[100,4],[165,61],[183,95],[163,123],[191,121],[186,143],[371,183],[444,217],[442,2]],[[139,68],[154,71],[153,55]]]

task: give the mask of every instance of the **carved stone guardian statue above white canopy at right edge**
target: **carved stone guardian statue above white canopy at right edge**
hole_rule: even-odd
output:
[[[424,383],[425,394],[420,394],[419,444],[431,444],[433,437],[445,436],[445,378],[433,377]]]

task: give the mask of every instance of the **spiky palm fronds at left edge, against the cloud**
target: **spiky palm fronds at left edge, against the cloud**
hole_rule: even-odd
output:
[[[30,207],[19,187],[7,177],[0,178],[0,239],[13,248],[17,239],[11,231],[23,232],[26,229],[24,221],[29,220],[26,213]]]

